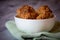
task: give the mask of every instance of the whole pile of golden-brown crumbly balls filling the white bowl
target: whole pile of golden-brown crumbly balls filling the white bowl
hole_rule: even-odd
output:
[[[16,17],[23,19],[48,19],[54,17],[51,9],[47,5],[34,9],[29,5],[23,5],[16,10]]]

